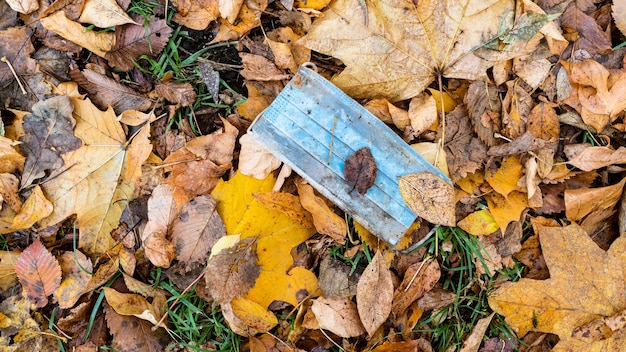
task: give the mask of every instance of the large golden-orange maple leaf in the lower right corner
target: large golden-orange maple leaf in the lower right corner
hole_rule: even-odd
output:
[[[519,336],[558,335],[553,351],[623,351],[626,329],[596,341],[572,332],[626,308],[626,237],[605,252],[577,225],[537,229],[550,278],[522,278],[499,288],[489,297],[491,308]]]

